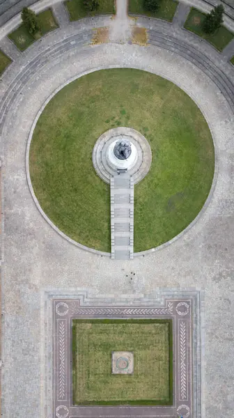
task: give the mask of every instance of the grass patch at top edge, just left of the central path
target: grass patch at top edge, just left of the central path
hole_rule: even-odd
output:
[[[99,8],[95,12],[88,13],[84,8],[83,0],[65,1],[65,7],[68,9],[70,20],[79,20],[82,17],[95,15],[114,15],[116,13],[114,0],[99,0]]]

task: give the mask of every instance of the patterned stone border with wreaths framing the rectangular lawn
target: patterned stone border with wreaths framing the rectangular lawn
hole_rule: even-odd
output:
[[[150,297],[89,299],[86,292],[45,293],[45,415],[57,417],[201,418],[200,291],[157,291]],[[72,318],[172,318],[173,405],[152,407],[72,405]],[[50,398],[53,398],[53,402]]]

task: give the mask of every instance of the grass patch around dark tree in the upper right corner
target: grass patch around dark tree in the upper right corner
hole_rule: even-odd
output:
[[[196,8],[192,8],[185,22],[185,29],[196,33],[196,35],[201,36],[212,45],[214,45],[214,47],[219,51],[222,51],[224,47],[228,45],[228,42],[233,39],[233,33],[228,31],[228,29],[226,29],[224,26],[220,26],[216,32],[214,32],[212,35],[208,35],[207,33],[204,33],[202,29],[204,20],[205,14],[201,13],[199,10],[196,10]]]

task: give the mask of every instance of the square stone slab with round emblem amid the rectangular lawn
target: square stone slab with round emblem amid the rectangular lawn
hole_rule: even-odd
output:
[[[112,374],[132,374],[133,364],[134,360],[132,351],[112,351]]]

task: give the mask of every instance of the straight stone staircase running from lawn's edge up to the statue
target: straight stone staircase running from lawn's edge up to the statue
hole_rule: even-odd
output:
[[[134,183],[127,173],[111,177],[111,258],[133,258]]]

